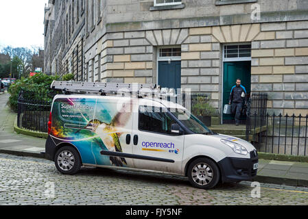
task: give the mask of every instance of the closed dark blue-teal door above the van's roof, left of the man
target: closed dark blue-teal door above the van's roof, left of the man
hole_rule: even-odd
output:
[[[158,62],[158,85],[161,88],[180,88],[181,62]]]

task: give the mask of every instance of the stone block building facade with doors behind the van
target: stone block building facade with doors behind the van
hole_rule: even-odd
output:
[[[240,77],[249,92],[268,93],[269,112],[308,113],[306,0],[168,2],[52,1],[62,7],[45,22],[45,69],[76,81],[191,88],[222,117]]]

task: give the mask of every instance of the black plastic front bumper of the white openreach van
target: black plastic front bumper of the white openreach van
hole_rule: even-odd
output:
[[[222,182],[250,181],[257,176],[258,169],[254,164],[259,162],[258,156],[247,158],[226,157],[218,162]]]

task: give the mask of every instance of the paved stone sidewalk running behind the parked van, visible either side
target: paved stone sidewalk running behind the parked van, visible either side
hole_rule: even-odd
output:
[[[44,157],[45,139],[14,132],[16,113],[7,105],[9,94],[0,93],[0,153]],[[308,187],[308,162],[283,162],[259,159],[254,181]]]

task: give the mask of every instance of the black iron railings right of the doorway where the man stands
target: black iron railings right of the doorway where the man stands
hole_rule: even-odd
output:
[[[248,101],[246,140],[260,152],[307,156],[307,115],[267,113],[267,94],[252,94]]]

